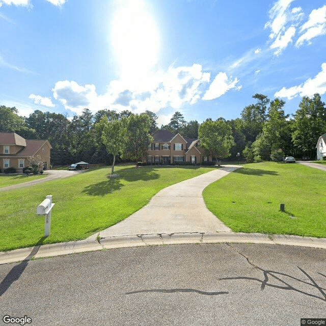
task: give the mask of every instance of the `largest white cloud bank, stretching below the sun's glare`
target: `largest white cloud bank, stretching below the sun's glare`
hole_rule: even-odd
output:
[[[81,86],[68,80],[57,82],[52,92],[65,108],[78,114],[85,107],[96,112],[109,106],[118,112],[158,112],[168,106],[178,109],[196,103],[209,79],[210,73],[194,64],[152,72],[138,83],[133,79],[112,80],[102,95],[97,94],[95,85]]]

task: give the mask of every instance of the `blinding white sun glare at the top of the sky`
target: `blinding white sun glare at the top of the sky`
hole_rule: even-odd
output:
[[[128,77],[139,77],[149,72],[158,60],[156,24],[141,0],[119,4],[111,32],[119,73]]]

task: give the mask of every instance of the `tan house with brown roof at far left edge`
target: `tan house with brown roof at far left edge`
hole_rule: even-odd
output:
[[[24,139],[15,132],[0,132],[0,168],[22,171],[29,166],[30,157],[39,155],[43,170],[49,169],[51,148],[47,140]]]

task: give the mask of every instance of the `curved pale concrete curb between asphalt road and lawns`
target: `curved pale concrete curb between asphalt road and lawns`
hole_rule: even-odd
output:
[[[301,237],[296,235],[266,235],[260,233],[172,233],[172,234],[138,234],[85,239],[79,241],[45,244],[30,248],[22,248],[0,252],[0,264],[43,257],[89,252],[103,249],[129,248],[142,246],[159,246],[181,243],[268,243],[286,246],[300,246],[326,249],[326,238]]]

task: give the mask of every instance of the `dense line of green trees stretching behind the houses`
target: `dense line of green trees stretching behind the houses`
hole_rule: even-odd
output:
[[[160,127],[157,115],[151,111],[138,115],[106,109],[92,114],[85,108],[69,120],[62,114],[40,110],[21,117],[16,107],[2,105],[0,132],[16,132],[26,139],[47,139],[52,146],[52,165],[80,160],[112,164],[118,141],[124,144],[120,144],[118,151],[121,157],[137,160],[145,153],[150,134],[159,129],[179,132],[184,138],[199,137],[207,151],[218,159],[229,156],[235,160],[237,153],[248,161],[269,160],[276,153],[315,158],[317,140],[326,132],[326,107],[318,93],[312,98],[304,96],[291,116],[284,113],[285,102],[281,99],[269,100],[263,94],[255,94],[253,99],[255,102],[244,107],[236,119],[207,118],[200,124],[197,120],[186,121],[180,112],[175,112],[170,122]],[[112,127],[114,121],[115,127],[109,130],[108,125]]]

